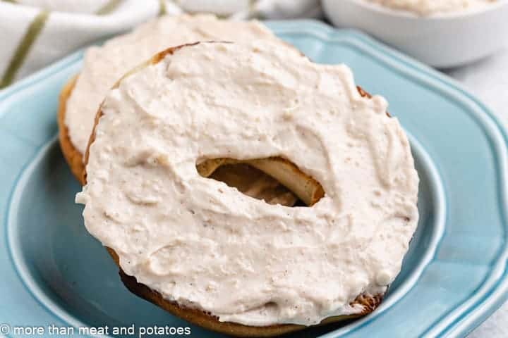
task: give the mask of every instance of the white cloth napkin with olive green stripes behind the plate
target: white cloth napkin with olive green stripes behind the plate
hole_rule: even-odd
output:
[[[81,46],[183,12],[317,18],[321,7],[319,0],[0,0],[0,89]]]

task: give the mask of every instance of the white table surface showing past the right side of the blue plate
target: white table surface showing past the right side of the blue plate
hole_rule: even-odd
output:
[[[508,127],[508,49],[462,68],[444,73],[464,84],[481,99]],[[469,334],[468,338],[508,337],[508,302],[485,323]]]

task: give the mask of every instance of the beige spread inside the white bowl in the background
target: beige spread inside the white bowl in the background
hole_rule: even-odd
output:
[[[474,11],[484,8],[497,0],[366,0],[389,8],[409,11],[417,15],[435,15]]]

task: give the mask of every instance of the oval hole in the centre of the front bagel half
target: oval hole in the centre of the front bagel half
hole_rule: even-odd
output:
[[[221,159],[219,159],[220,161]],[[217,161],[210,160],[210,161]],[[258,160],[254,160],[258,161]],[[287,160],[282,160],[284,163],[290,163]],[[294,165],[290,163],[291,170],[287,173],[287,175],[295,175],[298,173],[298,177],[303,177],[305,175],[301,173],[301,171]],[[298,194],[296,192],[291,191],[289,187],[286,187],[282,182],[279,182],[275,177],[268,175],[264,171],[255,168],[253,165],[249,163],[226,163],[223,165],[219,165],[210,175],[206,176],[206,173],[203,173],[202,165],[196,165],[196,169],[198,173],[202,177],[206,177],[212,180],[217,180],[219,182],[224,182],[229,187],[234,187],[238,189],[239,192],[246,194],[247,196],[253,197],[255,199],[260,199],[265,201],[267,204],[280,204],[282,206],[312,206],[319,199],[322,198],[324,192],[322,190],[321,184],[317,181],[313,180],[309,177],[309,179],[313,182],[316,187],[317,197],[313,196],[310,198],[313,202],[306,204],[303,199],[298,198]],[[204,163],[204,166],[207,166],[207,163]],[[295,172],[296,169],[296,172]],[[305,175],[306,176],[306,175]],[[306,176],[308,177],[308,176]],[[300,182],[295,179],[295,182]],[[301,182],[302,184],[308,184],[308,180],[306,182]],[[310,185],[313,185],[310,184]],[[220,192],[220,191],[219,191]]]

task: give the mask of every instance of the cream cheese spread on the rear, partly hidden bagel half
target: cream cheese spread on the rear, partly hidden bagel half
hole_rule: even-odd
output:
[[[280,41],[257,21],[219,20],[213,15],[165,16],[87,49],[75,87],[67,101],[65,124],[75,149],[85,155],[95,113],[108,90],[128,70],[158,51],[203,40]],[[282,43],[282,42],[281,42]]]

